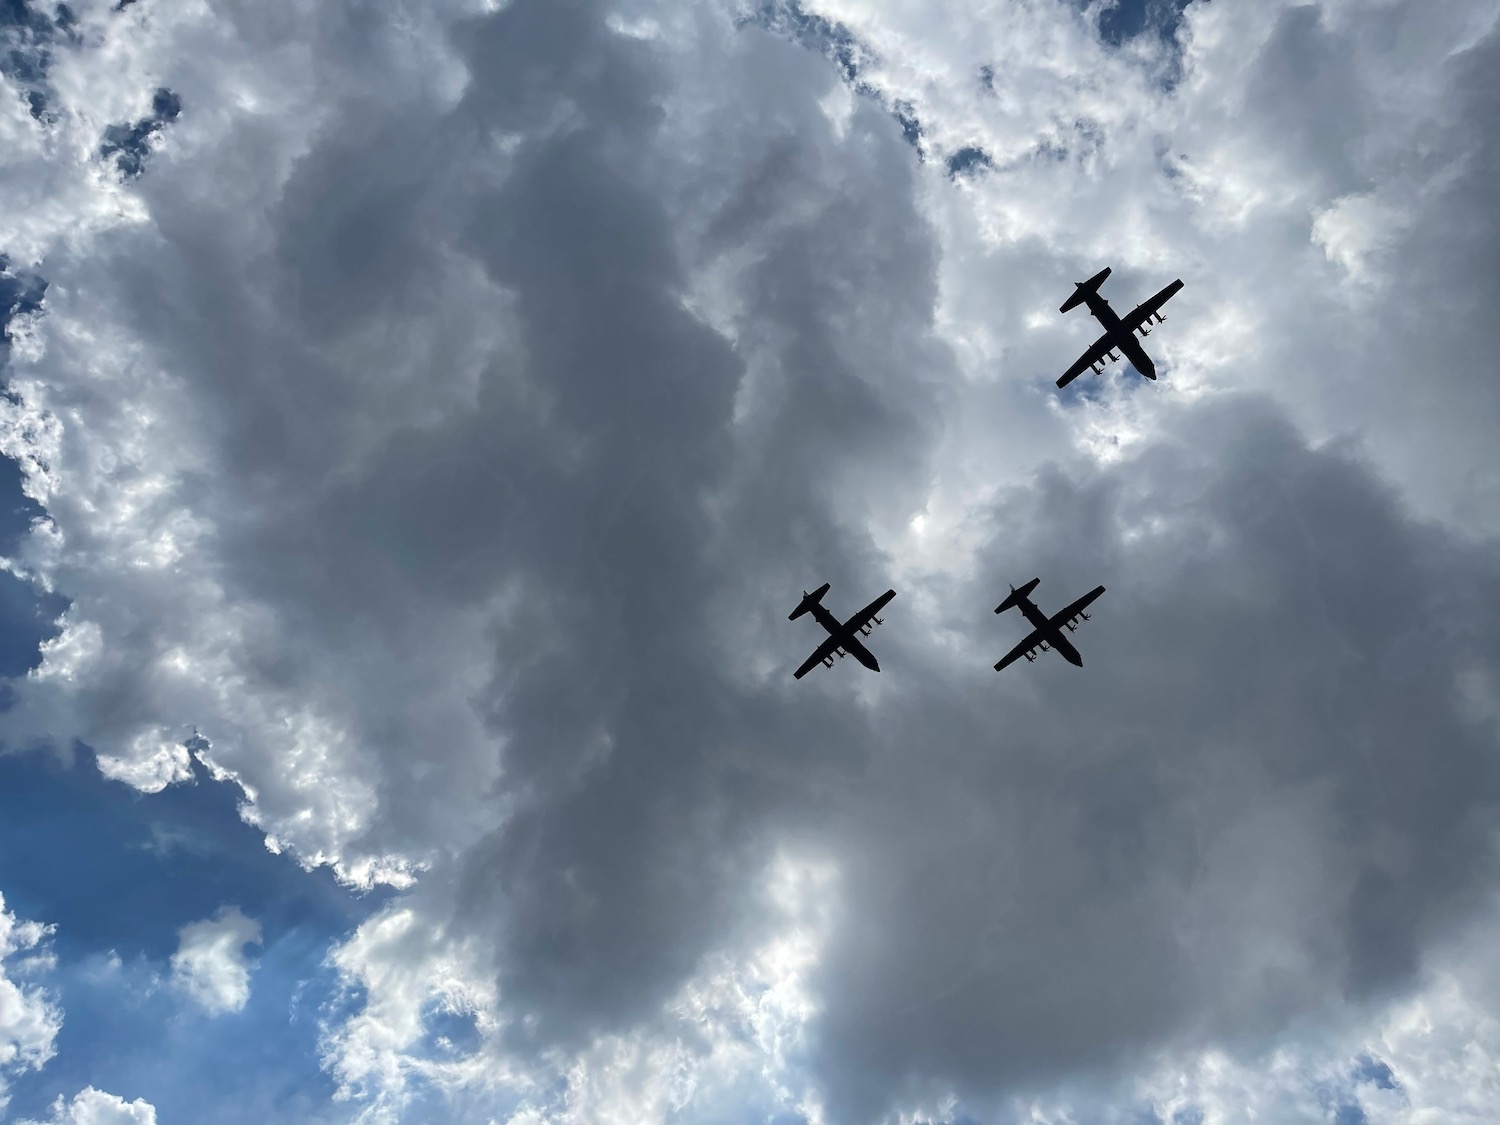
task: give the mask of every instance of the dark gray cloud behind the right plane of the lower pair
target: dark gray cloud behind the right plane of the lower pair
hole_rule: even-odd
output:
[[[980,1096],[1275,1034],[1408,982],[1492,886],[1494,729],[1464,688],[1500,668],[1492,548],[1263,402],[1176,414],[1140,459],[1002,500],[981,582],[944,591],[1000,654],[1006,580],[1053,608],[1108,586],[1082,670],[908,675],[838,848],[842,1119],[903,1080]]]

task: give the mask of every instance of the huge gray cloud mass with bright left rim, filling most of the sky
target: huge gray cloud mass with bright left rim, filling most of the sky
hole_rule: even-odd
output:
[[[136,760],[141,732],[198,723],[300,858],[430,864],[393,909],[495,986],[471,1038],[537,1068],[650,1030],[754,945],[788,852],[832,870],[808,1059],[836,1122],[952,1090],[1000,1118],[1017,1090],[1410,987],[1494,880],[1500,574],[1390,471],[1386,435],[1437,382],[1394,370],[1419,346],[1406,306],[1352,304],[1311,242],[1374,166],[1341,32],[1290,9],[1246,62],[1234,138],[1311,184],[1246,249],[1128,222],[1148,208],[1124,172],[1070,202],[1046,177],[1086,160],[934,189],[896,100],[837,108],[855,32],[776,12],[652,10],[651,34],[518,0],[441,36],[242,12],[290,70],[252,93],[300,90],[303,116],[164,74],[194,112],[183,156],[123,188],[148,222],[46,264],[22,398],[68,420],[46,450],[66,546],[36,558],[96,632],[27,684],[26,734]],[[441,63],[398,96],[408,50]],[[1436,141],[1476,153],[1442,198],[1478,243],[1491,52],[1452,63]],[[1328,112],[1276,126],[1310,100]],[[1100,138],[1090,159],[1125,147]],[[945,208],[975,184],[1016,210],[968,240]],[[1058,279],[1084,254],[1028,207],[1179,238],[1168,328],[1227,302],[1276,314],[1264,350],[1215,393],[1054,406]],[[1473,302],[1424,297],[1462,360],[1490,258],[1414,214],[1384,252]],[[982,330],[1004,351],[974,363]],[[1190,332],[1162,336],[1202,370]],[[1304,394],[1320,364],[1330,390]],[[1482,472],[1488,392],[1438,386]],[[1310,440],[1340,412],[1372,422]],[[1112,459],[1070,444],[1090,424],[1124,434]],[[1400,448],[1442,460],[1438,432]],[[978,548],[934,562],[909,530],[945,490]],[[1053,608],[1108,586],[1083,669],[990,670],[1020,628],[990,610],[1032,576]],[[784,618],[824,580],[843,612],[898,588],[880,676],[792,682],[818,638]]]

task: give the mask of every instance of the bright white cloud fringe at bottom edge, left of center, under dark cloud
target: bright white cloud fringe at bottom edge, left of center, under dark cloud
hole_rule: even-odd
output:
[[[676,1114],[822,1120],[808,1066],[818,999],[808,974],[831,922],[837,873],[777,856],[747,902],[768,914],[756,939],[704,958],[652,1018],[626,1034],[586,1036],[540,1058],[507,1047],[504,1014],[482,951],[423,927],[410,904],[364,922],[334,956],[357,1016],[324,1038],[342,1096],[364,1120],[434,1120],[472,1106],[514,1125],[657,1122]],[[434,1032],[434,1014],[468,1035]]]

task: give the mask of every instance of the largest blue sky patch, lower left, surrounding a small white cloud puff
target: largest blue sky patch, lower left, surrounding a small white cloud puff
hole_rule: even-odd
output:
[[[327,1104],[316,1040],[338,981],[324,960],[392,892],[272,855],[237,804],[207,777],[140,794],[82,748],[72,764],[0,758],[0,888],[20,916],[56,924],[46,984],[63,1010],[57,1058],[15,1082],[14,1113],[42,1118],[90,1083],[164,1120],[298,1122]],[[226,904],[261,945],[246,1008],[210,1017],[170,984],[170,962],[178,930]]]

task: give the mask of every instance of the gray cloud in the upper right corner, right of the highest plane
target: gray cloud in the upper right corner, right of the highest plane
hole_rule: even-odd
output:
[[[1431,18],[1452,27],[1466,14],[1452,4]],[[1440,96],[1376,126],[1374,90],[1389,81],[1377,60],[1404,58],[1390,45],[1414,34],[1418,16],[1406,8],[1371,15],[1330,26],[1318,8],[1292,8],[1257,57],[1246,124],[1275,138],[1262,171],[1308,207],[1266,222],[1263,244],[1236,255],[1226,290],[1242,308],[1260,306],[1268,346],[1252,378],[1302,424],[1318,435],[1358,430],[1424,512],[1494,534],[1500,478],[1490,435],[1500,388],[1486,357],[1500,338],[1480,309],[1496,291],[1482,248],[1500,237],[1484,189],[1497,168],[1488,123],[1500,112],[1500,39],[1473,33],[1420,70],[1437,76]],[[1360,51],[1340,50],[1340,36]],[[1308,104],[1320,112],[1294,108]],[[1348,274],[1360,285],[1347,286]]]

